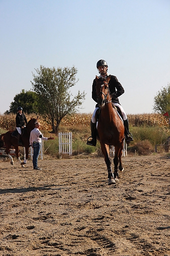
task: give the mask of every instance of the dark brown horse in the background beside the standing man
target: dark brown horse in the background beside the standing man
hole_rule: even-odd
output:
[[[11,164],[14,164],[14,161],[11,157],[11,155],[9,154],[9,149],[11,148],[11,146],[13,146],[15,148],[15,156],[17,157],[19,163],[21,163],[22,167],[24,167],[24,164],[26,164],[28,156],[29,156],[29,137],[30,137],[30,133],[31,131],[35,128],[35,124],[37,122],[37,118],[32,118],[29,120],[29,122],[27,123],[27,125],[25,126],[22,136],[21,136],[21,140],[22,140],[22,146],[25,147],[25,160],[24,162],[22,162],[19,158],[19,148],[18,148],[18,138],[14,137],[12,135],[12,133],[14,131],[8,131],[6,134],[1,134],[0,135],[0,147],[2,147],[4,144],[6,145],[6,149],[5,152],[7,153],[7,155],[9,156],[10,160],[11,160]]]

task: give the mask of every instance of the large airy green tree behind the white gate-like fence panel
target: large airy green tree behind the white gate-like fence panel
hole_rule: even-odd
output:
[[[85,99],[85,93],[78,91],[71,100],[69,89],[78,82],[77,69],[74,66],[57,69],[40,66],[35,70],[37,75],[33,74],[31,83],[40,99],[40,114],[51,124],[52,132],[58,134],[61,120],[65,115],[76,113]]]

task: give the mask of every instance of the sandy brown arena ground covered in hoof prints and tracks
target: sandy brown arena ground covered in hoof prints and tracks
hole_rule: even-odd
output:
[[[0,160],[0,256],[170,256],[170,159]]]

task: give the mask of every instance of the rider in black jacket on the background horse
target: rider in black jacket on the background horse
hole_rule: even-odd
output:
[[[17,108],[18,113],[15,118],[16,122],[16,129],[18,130],[18,145],[22,145],[21,141],[21,134],[22,134],[22,129],[25,127],[25,124],[27,124],[27,119],[25,114],[22,112],[22,107]]]

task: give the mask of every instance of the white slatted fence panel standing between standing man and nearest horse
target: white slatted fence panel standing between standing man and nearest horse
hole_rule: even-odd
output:
[[[69,154],[72,156],[72,132],[58,133],[59,155]]]

